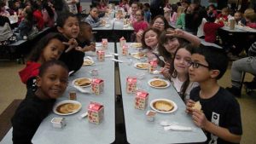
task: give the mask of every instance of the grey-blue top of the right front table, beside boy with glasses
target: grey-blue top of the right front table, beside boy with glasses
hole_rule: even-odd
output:
[[[121,55],[121,49],[119,43],[117,43],[117,49],[119,55]],[[135,52],[137,49],[130,48],[129,53]],[[136,62],[144,60],[132,59],[129,56],[119,56],[119,60]],[[206,141],[207,137],[203,131],[196,127],[190,116],[185,112],[185,105],[177,91],[173,88],[172,84],[166,89],[154,89],[148,85],[148,80],[154,78],[153,74],[149,74],[146,70],[139,70],[133,66],[133,64],[127,65],[127,63],[119,63],[120,83],[122,89],[122,99],[125,115],[125,130],[127,141],[132,144],[148,144],[148,143],[188,143],[188,142],[201,142]],[[148,107],[146,110],[137,110],[134,108],[135,97],[126,93],[126,78],[128,76],[137,76],[138,72],[144,72],[145,78],[138,80],[139,89],[145,89],[149,93]],[[161,78],[160,75],[157,75]],[[154,99],[165,98],[174,101],[177,104],[177,111],[172,113],[157,113],[154,122],[148,122],[146,118],[147,110],[150,101]],[[170,123],[177,123],[183,126],[189,126],[193,128],[192,131],[174,131],[164,130],[160,126],[160,121],[167,121]]]

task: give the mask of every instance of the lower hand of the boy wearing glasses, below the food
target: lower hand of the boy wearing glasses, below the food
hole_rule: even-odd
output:
[[[194,112],[192,112],[192,118],[193,118],[195,125],[197,125],[198,127],[202,128],[202,129],[204,129],[206,127],[208,120],[207,120],[204,112],[195,110]]]

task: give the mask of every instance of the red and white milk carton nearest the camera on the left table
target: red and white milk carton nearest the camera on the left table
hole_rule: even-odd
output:
[[[90,123],[100,124],[104,116],[104,106],[97,102],[90,101],[88,107],[88,119]]]

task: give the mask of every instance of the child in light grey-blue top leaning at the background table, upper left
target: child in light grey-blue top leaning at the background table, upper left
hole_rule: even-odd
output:
[[[98,9],[96,9],[96,7],[90,9],[89,15],[84,21],[88,22],[91,27],[98,27],[104,24],[103,20],[99,18]]]

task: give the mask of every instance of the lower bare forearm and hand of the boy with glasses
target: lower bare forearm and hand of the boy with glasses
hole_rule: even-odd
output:
[[[241,135],[232,134],[230,133],[230,130],[212,124],[212,122],[208,121],[205,114],[201,111],[195,110],[194,112],[192,112],[192,118],[197,126],[201,127],[204,130],[207,130],[213,135],[217,135],[225,141],[230,141],[234,143],[239,143],[241,141]]]

